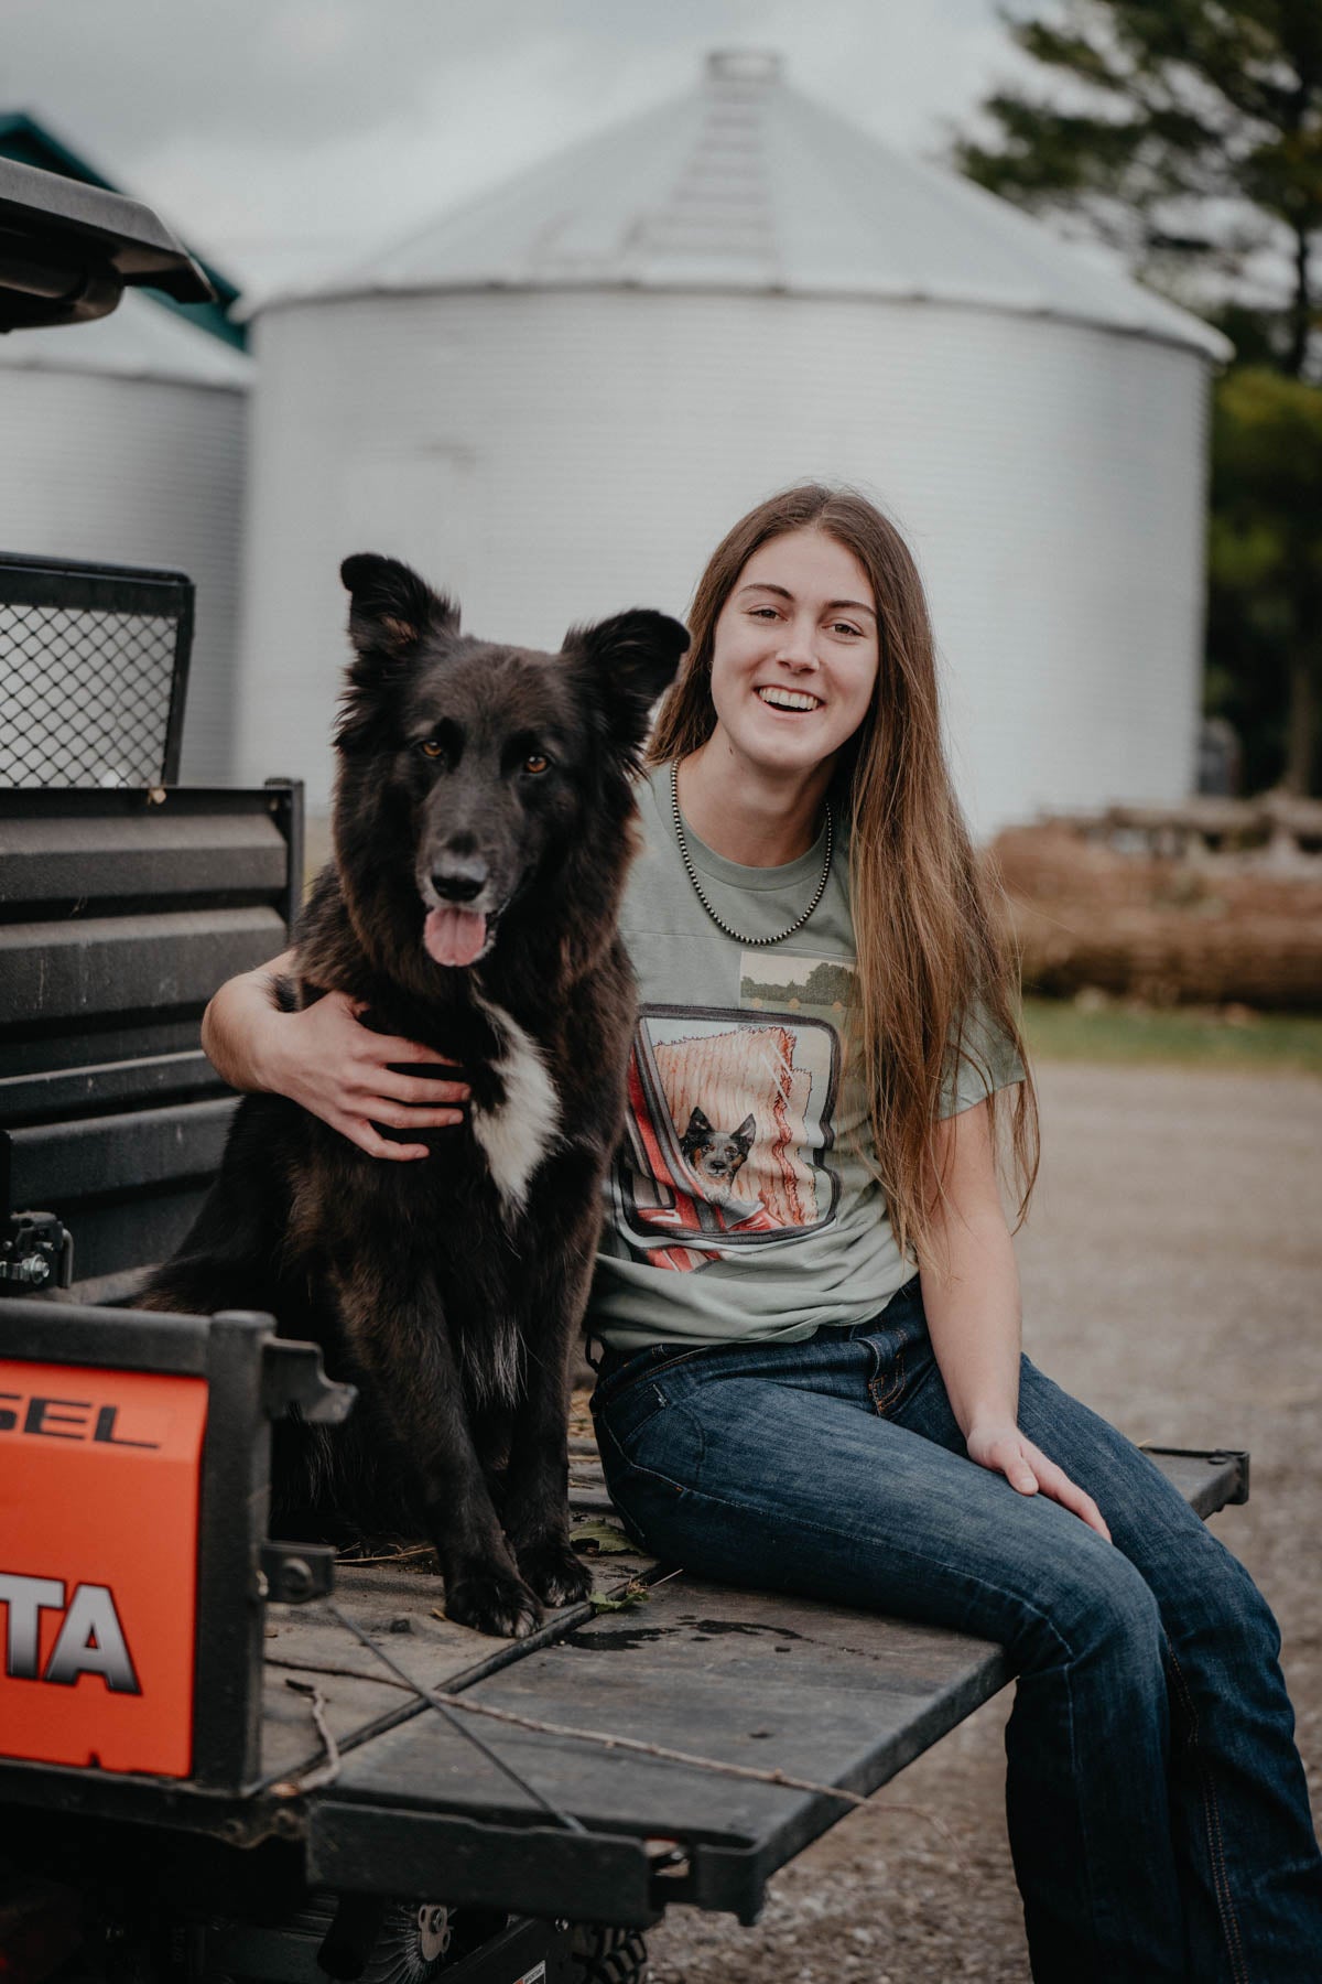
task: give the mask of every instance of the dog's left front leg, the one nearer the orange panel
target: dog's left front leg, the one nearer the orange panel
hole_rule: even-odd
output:
[[[446,1615],[525,1639],[541,1607],[519,1577],[474,1448],[440,1296],[426,1272],[341,1284],[345,1333],[408,1460],[446,1579]]]

